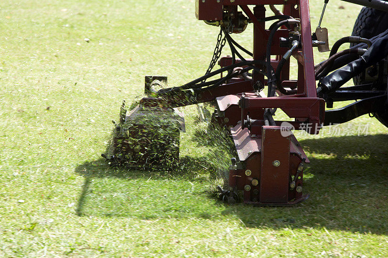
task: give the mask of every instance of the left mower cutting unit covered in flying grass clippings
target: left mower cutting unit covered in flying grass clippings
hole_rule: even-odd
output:
[[[182,119],[175,110],[137,105],[120,122],[106,153],[111,162],[129,167],[177,163]]]

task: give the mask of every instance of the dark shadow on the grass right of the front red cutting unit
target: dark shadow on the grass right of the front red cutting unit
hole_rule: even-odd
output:
[[[248,227],[326,228],[388,234],[388,135],[300,141],[311,157],[294,207],[226,206]]]

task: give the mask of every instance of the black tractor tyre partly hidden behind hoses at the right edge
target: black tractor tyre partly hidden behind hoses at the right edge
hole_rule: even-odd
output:
[[[353,27],[352,36],[359,36],[363,38],[372,38],[388,29],[388,13],[373,9],[370,7],[362,7],[357,16],[356,23]],[[356,44],[351,44],[353,47]],[[364,84],[360,76],[353,78],[355,85]],[[374,116],[383,125],[388,127],[388,109],[383,108],[382,111],[376,112]]]

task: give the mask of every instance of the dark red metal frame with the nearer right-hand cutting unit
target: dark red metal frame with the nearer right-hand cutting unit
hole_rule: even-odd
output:
[[[283,4],[284,14],[300,19],[302,47],[293,53],[298,61],[298,78],[289,79],[289,63],[283,66],[281,74],[282,85],[296,88],[296,94],[282,96],[278,92],[278,97],[265,97],[253,92],[253,85],[258,81],[263,85],[266,83],[264,76],[254,71],[252,80],[233,78],[200,94],[176,92],[167,99],[143,98],[140,104],[177,107],[217,100],[214,119],[230,129],[238,154],[237,166],[229,171],[229,190],[243,191],[243,200],[248,204],[287,206],[308,198],[302,194],[302,180],[303,164],[309,161],[292,132],[284,134],[282,131],[282,122],[285,121],[275,121],[276,126],[265,126],[263,114],[264,109],[278,108],[294,118],[294,121],[288,121],[294,129],[309,129],[309,133],[316,134],[321,128],[324,100],[316,94],[308,0],[196,0],[196,16],[202,20],[222,20],[224,10],[236,12],[234,16],[237,16],[235,7],[240,6],[254,24],[253,60],[263,61],[270,33],[261,19],[265,17],[264,4]],[[255,5],[253,12],[247,5]],[[280,47],[279,38],[288,38],[290,32],[284,27],[275,33],[271,48],[271,55],[277,56],[271,61],[274,69],[288,50]],[[219,62],[222,67],[231,63],[230,56]],[[244,121],[247,115],[250,117],[248,128]]]

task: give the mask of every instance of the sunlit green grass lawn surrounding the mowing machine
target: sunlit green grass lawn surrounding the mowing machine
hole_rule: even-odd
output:
[[[314,29],[323,1],[310,4]],[[359,10],[330,1],[332,43]],[[251,26],[234,36],[243,46]],[[214,198],[193,107],[179,173],[100,158],[144,75],[177,86],[205,72],[218,28],[196,21],[193,0],[3,0],[0,31],[0,257],[388,257],[388,135],[368,115],[338,134],[296,134],[311,197],[292,208]]]

